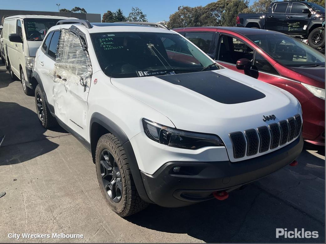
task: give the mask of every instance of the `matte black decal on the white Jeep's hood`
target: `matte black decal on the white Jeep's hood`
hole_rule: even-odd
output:
[[[254,88],[212,71],[156,77],[225,104],[250,102],[266,97],[264,93]]]

